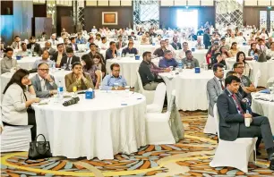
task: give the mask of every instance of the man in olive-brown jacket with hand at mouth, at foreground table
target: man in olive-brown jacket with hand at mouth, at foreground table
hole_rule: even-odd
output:
[[[68,92],[73,92],[73,87],[77,90],[94,89],[90,74],[83,72],[81,63],[73,63],[73,72],[64,76],[65,88]]]

